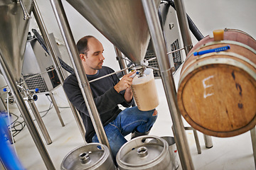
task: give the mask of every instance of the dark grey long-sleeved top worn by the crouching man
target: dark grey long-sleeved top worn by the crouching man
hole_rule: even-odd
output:
[[[102,69],[98,70],[97,74],[87,75],[87,79],[90,81],[112,72],[114,72],[114,70],[110,69],[110,67],[102,67]],[[97,111],[100,114],[103,126],[114,120],[114,118],[116,118],[117,115],[122,111],[119,109],[118,104],[121,104],[124,107],[129,107],[133,103],[133,101],[131,103],[127,103],[124,100],[124,91],[117,93],[117,91],[114,90],[114,85],[118,82],[119,79],[117,75],[112,74],[109,77],[105,77],[90,83],[92,96],[95,101]],[[90,119],[90,115],[88,113],[87,106],[82,96],[82,92],[78,85],[78,79],[76,78],[75,74],[70,74],[70,76],[65,79],[63,88],[65,94],[68,96],[68,99],[73,104],[73,106],[78,109],[78,112],[81,115],[82,122],[84,123],[86,130],[85,140],[87,142],[92,142],[92,137],[95,135],[95,129],[92,125],[92,120]]]

